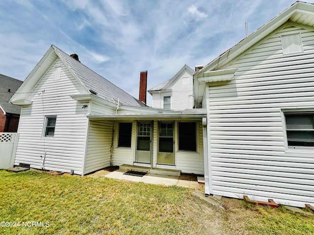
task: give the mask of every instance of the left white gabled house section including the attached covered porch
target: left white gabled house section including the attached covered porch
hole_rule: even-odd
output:
[[[204,173],[206,110],[148,108],[57,47],[10,102],[22,106],[15,164],[79,175],[110,164]]]

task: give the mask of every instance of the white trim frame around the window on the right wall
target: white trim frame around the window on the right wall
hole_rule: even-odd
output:
[[[313,114],[314,109],[281,109],[281,118],[282,118],[282,125],[283,125],[283,134],[284,134],[284,145],[285,145],[285,152],[286,153],[311,153],[313,154],[314,146],[289,146],[288,145],[288,136],[287,136],[287,124],[286,124],[286,114]]]

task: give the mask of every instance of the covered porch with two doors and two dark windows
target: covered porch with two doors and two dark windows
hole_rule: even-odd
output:
[[[127,164],[204,175],[206,110],[87,118],[84,174]]]

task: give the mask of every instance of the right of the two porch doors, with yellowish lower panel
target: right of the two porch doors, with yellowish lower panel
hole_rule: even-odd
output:
[[[175,164],[173,122],[159,122],[157,164]]]

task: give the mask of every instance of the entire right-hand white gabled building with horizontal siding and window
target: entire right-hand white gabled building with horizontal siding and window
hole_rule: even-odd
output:
[[[314,203],[314,5],[296,2],[194,75],[206,194]],[[207,159],[207,157],[205,157]]]

